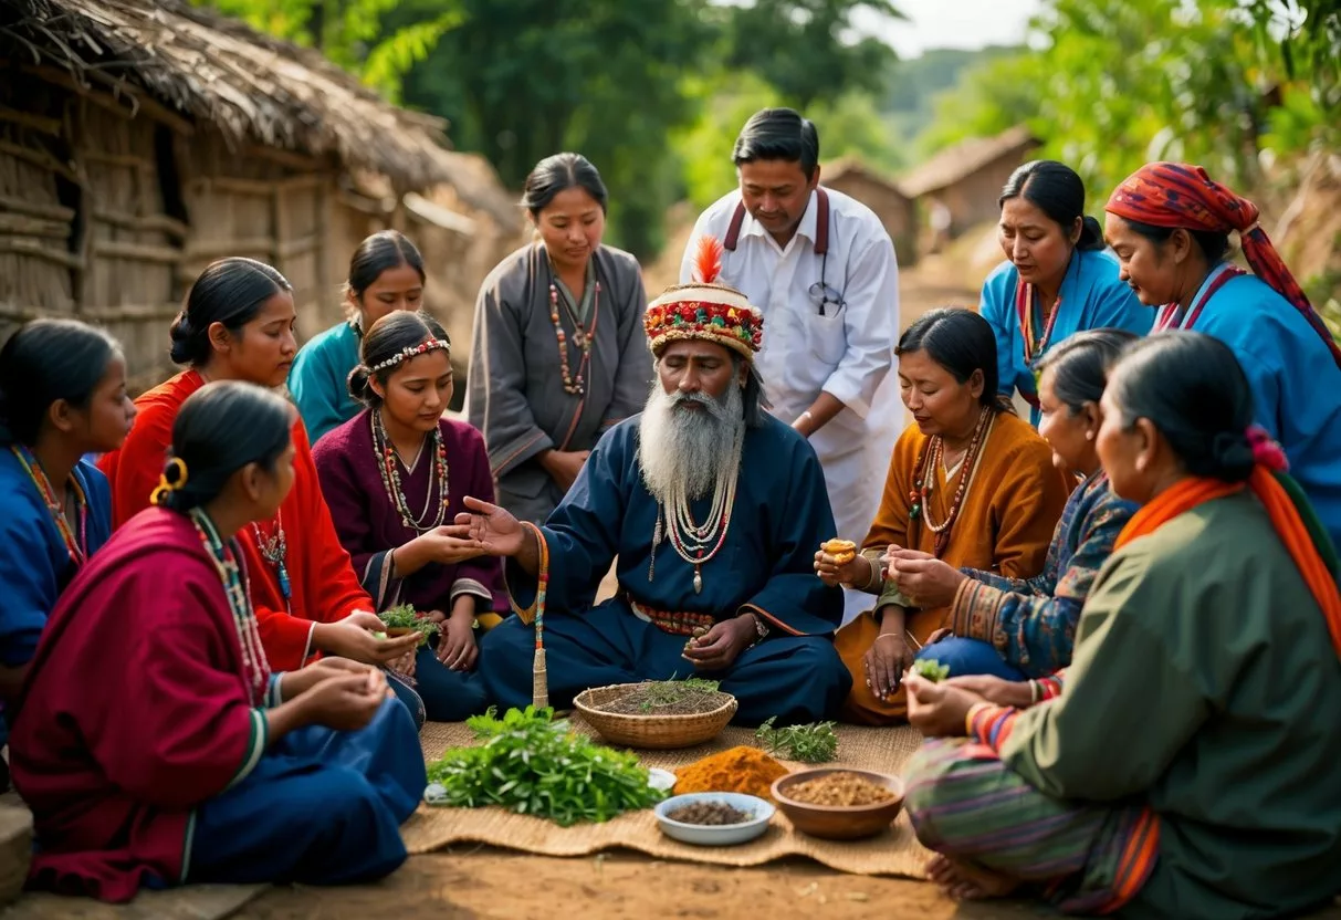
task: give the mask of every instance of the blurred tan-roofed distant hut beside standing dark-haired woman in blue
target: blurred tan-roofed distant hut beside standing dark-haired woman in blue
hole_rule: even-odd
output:
[[[1011,172],[1041,146],[1019,125],[996,137],[974,138],[941,150],[898,182],[923,213],[936,204],[949,211],[951,237],[982,223],[995,221],[996,198]]]

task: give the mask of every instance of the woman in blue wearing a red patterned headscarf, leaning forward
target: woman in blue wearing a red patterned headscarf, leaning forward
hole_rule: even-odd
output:
[[[1252,385],[1257,424],[1341,544],[1341,347],[1258,224],[1258,208],[1191,164],[1152,162],[1108,205],[1122,280],[1159,329],[1214,335]],[[1228,262],[1238,232],[1251,274]]]

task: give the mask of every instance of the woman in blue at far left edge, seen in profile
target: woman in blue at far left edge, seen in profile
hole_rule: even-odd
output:
[[[0,703],[17,696],[47,616],[111,532],[107,479],[83,456],[121,447],[134,417],[121,346],[102,330],[35,319],[0,350]],[[0,744],[7,735],[8,717]]]

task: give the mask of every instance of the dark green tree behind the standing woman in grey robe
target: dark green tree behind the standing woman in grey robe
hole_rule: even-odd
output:
[[[421,3],[426,0],[420,0]],[[405,83],[405,98],[452,122],[510,186],[571,149],[611,193],[610,237],[660,244],[677,194],[666,135],[692,121],[685,75],[708,56],[721,12],[707,0],[463,0],[467,20]]]

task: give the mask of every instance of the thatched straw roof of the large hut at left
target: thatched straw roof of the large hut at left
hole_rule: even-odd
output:
[[[0,40],[111,89],[245,141],[337,156],[400,188],[449,178],[447,123],[388,105],[310,48],[261,35],[180,0],[0,0]]]

